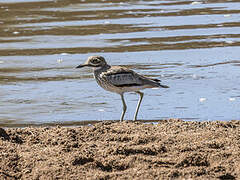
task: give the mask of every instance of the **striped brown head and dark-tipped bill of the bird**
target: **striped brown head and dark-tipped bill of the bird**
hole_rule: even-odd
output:
[[[85,66],[93,67],[93,68],[99,68],[107,65],[104,57],[102,56],[90,56],[87,61],[84,64],[80,64],[76,68],[82,68]]]

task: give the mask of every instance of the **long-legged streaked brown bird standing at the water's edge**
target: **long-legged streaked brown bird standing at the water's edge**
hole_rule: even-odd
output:
[[[169,88],[169,86],[160,84],[159,79],[145,77],[123,66],[110,66],[102,56],[90,56],[84,64],[80,64],[76,68],[83,67],[92,67],[98,85],[121,96],[123,109],[120,121],[123,121],[127,110],[124,99],[125,92],[135,92],[140,96],[133,119],[133,121],[136,121],[144,95],[140,90],[145,88]]]

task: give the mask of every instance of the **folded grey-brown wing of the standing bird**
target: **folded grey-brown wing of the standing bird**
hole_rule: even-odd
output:
[[[142,84],[141,76],[134,71],[121,66],[112,66],[101,74],[102,78],[114,86],[139,86]]]

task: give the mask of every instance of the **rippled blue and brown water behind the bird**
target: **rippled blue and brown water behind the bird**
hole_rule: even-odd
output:
[[[170,86],[144,90],[140,120],[239,119],[239,32],[236,0],[0,0],[0,124],[119,119],[120,96],[74,68],[96,54]]]

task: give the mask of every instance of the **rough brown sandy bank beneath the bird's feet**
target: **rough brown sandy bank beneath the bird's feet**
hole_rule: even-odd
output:
[[[240,121],[0,128],[0,179],[239,179]]]

